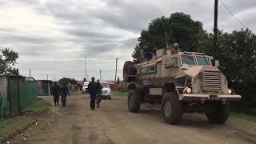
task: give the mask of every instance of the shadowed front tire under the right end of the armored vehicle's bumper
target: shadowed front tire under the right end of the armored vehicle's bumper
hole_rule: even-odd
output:
[[[229,103],[210,102],[206,103],[206,105],[206,118],[208,118],[210,122],[222,124],[230,117]]]

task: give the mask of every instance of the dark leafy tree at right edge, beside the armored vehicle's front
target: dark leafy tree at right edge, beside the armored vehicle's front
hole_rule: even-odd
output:
[[[230,87],[242,94],[244,108],[255,108],[256,36],[248,29],[218,34],[218,58]]]

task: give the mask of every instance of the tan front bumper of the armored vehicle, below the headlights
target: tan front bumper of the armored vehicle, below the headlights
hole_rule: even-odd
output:
[[[182,101],[240,101],[241,95],[237,94],[219,94],[219,95],[210,95],[210,94],[179,94],[179,100]]]

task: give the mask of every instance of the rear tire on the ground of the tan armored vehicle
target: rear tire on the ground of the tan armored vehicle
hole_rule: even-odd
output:
[[[128,109],[132,113],[138,113],[141,107],[141,95],[139,90],[130,90],[128,94]]]

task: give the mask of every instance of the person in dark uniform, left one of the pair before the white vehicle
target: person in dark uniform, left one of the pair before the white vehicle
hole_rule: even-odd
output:
[[[95,78],[91,78],[91,82],[88,85],[88,92],[90,94],[90,110],[95,110],[95,99],[97,93],[97,83],[94,81]]]

